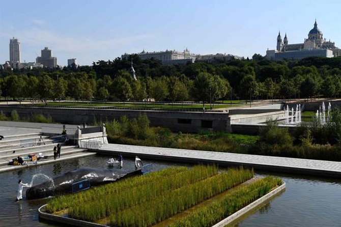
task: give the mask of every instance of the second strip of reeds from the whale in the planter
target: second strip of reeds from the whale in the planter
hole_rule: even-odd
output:
[[[95,221],[132,206],[148,203],[167,191],[175,190],[218,174],[217,166],[197,165],[185,172],[172,176],[156,178],[154,182],[126,188],[125,191],[106,191],[104,196],[82,206],[69,207],[68,215],[76,219]],[[118,182],[119,183],[119,182]],[[112,189],[112,188],[111,188]]]

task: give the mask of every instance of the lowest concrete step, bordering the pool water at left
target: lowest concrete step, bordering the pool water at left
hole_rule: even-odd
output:
[[[62,151],[63,152],[63,151]],[[82,151],[82,152],[78,152],[78,153],[61,153],[61,158],[58,159],[53,159],[53,154],[52,157],[47,158],[47,159],[43,159],[37,162],[37,164],[34,164],[32,161],[28,162],[27,165],[3,165],[0,166],[0,173],[1,172],[6,172],[6,171],[13,171],[16,169],[20,169],[20,168],[29,168],[29,167],[33,167],[33,166],[37,166],[37,165],[43,165],[43,164],[50,164],[50,163],[54,163],[54,162],[61,162],[61,161],[65,161],[65,160],[69,160],[69,159],[74,159],[74,158],[82,158],[82,157],[88,157],[88,156],[93,156],[96,155],[95,152],[88,152],[88,151]]]

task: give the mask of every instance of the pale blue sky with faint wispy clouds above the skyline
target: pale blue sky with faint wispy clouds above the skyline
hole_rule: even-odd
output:
[[[0,63],[9,40],[21,43],[21,62],[48,47],[58,65],[114,60],[124,53],[178,50],[251,57],[276,48],[280,30],[289,44],[303,43],[318,27],[341,47],[341,1],[329,0],[0,0]]]

